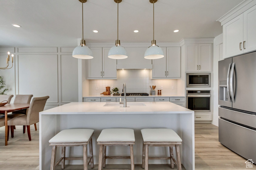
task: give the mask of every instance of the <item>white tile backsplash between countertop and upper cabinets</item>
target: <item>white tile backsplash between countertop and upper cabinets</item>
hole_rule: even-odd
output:
[[[148,93],[150,94],[150,86],[156,86],[157,90],[163,86],[162,94],[177,94],[176,79],[150,79],[150,70],[117,70],[117,80],[89,80],[89,95],[99,95],[106,91],[104,87],[111,86],[119,89],[122,93],[123,83],[126,83],[127,93]],[[172,89],[174,86],[174,89]],[[96,90],[99,87],[99,90]]]

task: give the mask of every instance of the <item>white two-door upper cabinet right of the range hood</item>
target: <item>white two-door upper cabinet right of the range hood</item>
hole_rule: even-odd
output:
[[[180,79],[180,47],[161,47],[164,57],[152,60],[152,79]]]

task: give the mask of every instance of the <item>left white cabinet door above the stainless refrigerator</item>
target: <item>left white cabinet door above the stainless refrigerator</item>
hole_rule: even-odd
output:
[[[243,53],[243,14],[223,25],[223,58]]]

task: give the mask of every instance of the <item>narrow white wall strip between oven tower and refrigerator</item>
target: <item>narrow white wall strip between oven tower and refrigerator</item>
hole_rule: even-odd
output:
[[[222,42],[223,42],[223,34],[218,35],[214,39],[213,43],[213,72],[212,72],[212,99],[213,99],[213,119],[212,124],[218,126],[218,62],[222,60]]]

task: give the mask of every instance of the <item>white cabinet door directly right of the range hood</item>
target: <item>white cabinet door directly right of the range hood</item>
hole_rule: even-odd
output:
[[[152,78],[166,77],[166,47],[161,47],[164,52],[164,57],[152,60]]]

